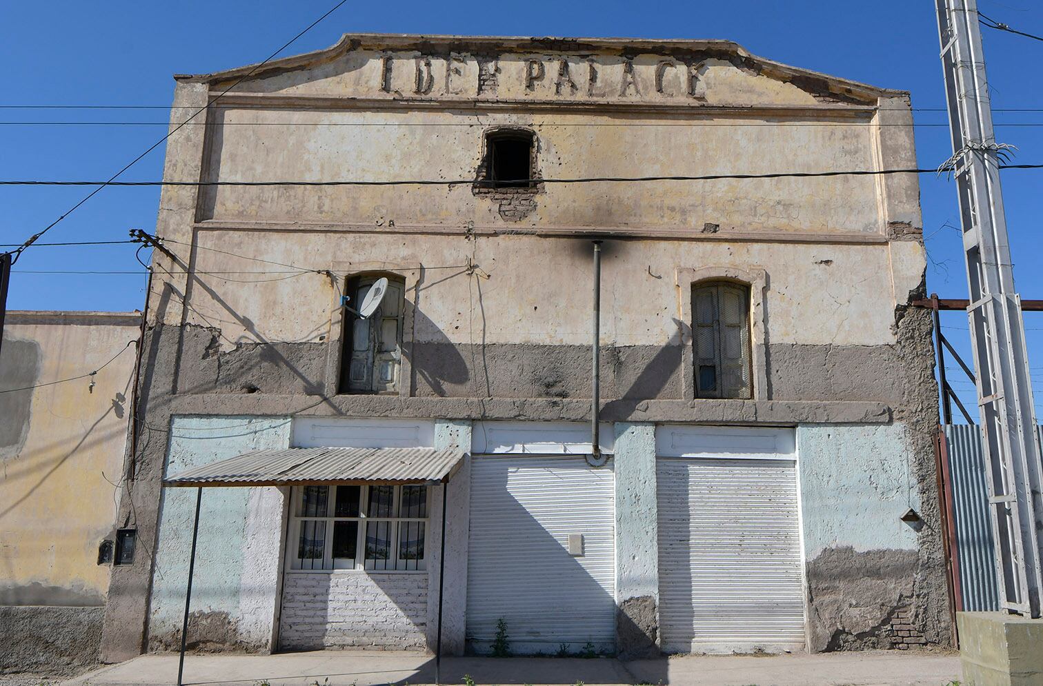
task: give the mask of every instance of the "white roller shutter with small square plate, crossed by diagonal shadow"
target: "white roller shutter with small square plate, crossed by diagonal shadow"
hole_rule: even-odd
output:
[[[514,653],[615,643],[611,466],[579,456],[476,456],[471,462],[467,638],[485,653],[503,617]],[[583,535],[581,556],[568,537]],[[575,543],[575,539],[574,539]]]

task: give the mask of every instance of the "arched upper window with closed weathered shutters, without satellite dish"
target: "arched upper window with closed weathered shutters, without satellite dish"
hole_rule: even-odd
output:
[[[750,287],[704,281],[692,288],[696,397],[751,398]]]

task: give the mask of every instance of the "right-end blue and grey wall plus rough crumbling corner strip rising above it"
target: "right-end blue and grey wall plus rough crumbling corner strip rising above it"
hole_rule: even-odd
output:
[[[894,421],[798,428],[814,651],[948,644],[930,315],[900,310]],[[915,526],[899,518],[914,510]]]

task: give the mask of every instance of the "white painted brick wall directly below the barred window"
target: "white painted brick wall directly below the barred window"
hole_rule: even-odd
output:
[[[288,573],[283,650],[423,650],[428,574]]]

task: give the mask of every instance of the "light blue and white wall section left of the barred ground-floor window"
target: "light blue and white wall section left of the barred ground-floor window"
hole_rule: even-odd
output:
[[[174,417],[165,475],[289,446],[288,418]],[[151,650],[179,640],[196,489],[165,488],[152,580]],[[274,487],[203,488],[192,611],[225,613],[238,640],[270,647],[278,584],[283,494]],[[191,640],[191,636],[190,636]]]

